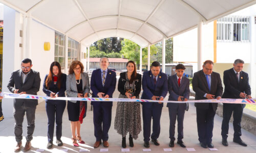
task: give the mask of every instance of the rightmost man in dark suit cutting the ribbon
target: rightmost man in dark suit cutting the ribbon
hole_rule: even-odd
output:
[[[223,93],[223,98],[232,99],[244,99],[251,98],[251,88],[249,85],[248,74],[242,71],[244,67],[244,61],[237,59],[234,61],[233,68],[225,70],[223,75],[223,82],[225,85],[225,90]],[[228,136],[228,124],[230,117],[233,112],[233,127],[234,127],[234,137],[233,142],[239,143],[242,146],[247,146],[246,143],[242,141],[240,136],[241,133],[241,120],[243,115],[243,109],[245,104],[223,104],[223,120],[221,126],[222,144],[228,146],[227,136]]]

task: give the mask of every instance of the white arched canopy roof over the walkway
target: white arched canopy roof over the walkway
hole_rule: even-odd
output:
[[[256,0],[0,0],[84,45],[123,37],[142,47],[256,4]]]

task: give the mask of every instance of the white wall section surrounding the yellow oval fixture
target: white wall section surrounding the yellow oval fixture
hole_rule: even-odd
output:
[[[46,74],[49,73],[50,65],[54,62],[54,41],[55,31],[32,20],[31,22],[31,60],[32,69],[39,71],[41,84],[38,95],[45,95],[42,92],[42,84]],[[44,43],[50,42],[51,48],[48,51],[44,50]]]

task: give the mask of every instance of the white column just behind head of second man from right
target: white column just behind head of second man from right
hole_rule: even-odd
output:
[[[197,70],[202,69],[202,27],[203,22],[199,21],[197,26]]]

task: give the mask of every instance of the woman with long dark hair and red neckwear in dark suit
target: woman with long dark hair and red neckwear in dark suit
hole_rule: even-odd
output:
[[[42,91],[47,96],[65,97],[66,91],[66,78],[67,75],[61,73],[61,67],[58,62],[52,62],[50,66],[49,74],[46,74]],[[56,143],[58,146],[62,146],[62,115],[66,107],[66,100],[46,100],[46,113],[48,117],[48,144],[47,148],[50,149],[53,146],[53,133],[54,122],[56,116]]]

